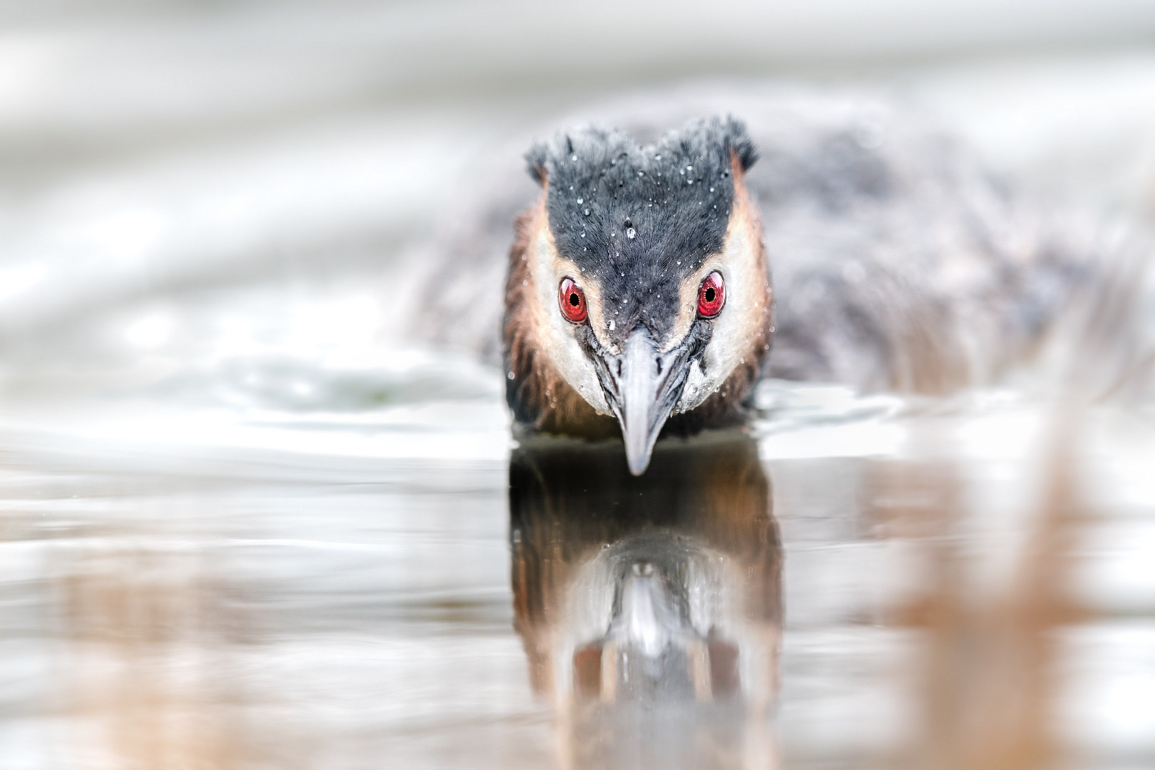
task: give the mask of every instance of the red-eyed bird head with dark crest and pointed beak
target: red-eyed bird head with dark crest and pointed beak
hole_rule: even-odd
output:
[[[616,418],[646,470],[672,414],[725,412],[769,349],[755,159],[742,124],[692,122],[651,145],[584,128],[527,155],[542,185],[506,291],[507,395],[539,428]]]

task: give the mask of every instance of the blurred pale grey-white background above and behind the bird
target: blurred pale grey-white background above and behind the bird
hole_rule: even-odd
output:
[[[1141,0],[9,3],[2,387],[128,377],[244,399],[254,357],[368,366],[396,323],[379,301],[390,260],[452,226],[469,185],[485,195],[462,177],[471,162],[590,100],[687,82],[893,92],[1016,184],[1146,220],[1152,14]]]

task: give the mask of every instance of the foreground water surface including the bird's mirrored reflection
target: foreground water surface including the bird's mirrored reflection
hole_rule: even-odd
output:
[[[761,395],[750,434],[663,446],[641,479],[614,444],[512,447],[490,397],[215,425],[229,446],[158,417],[9,429],[3,755],[1152,761],[1149,424],[1011,391]]]

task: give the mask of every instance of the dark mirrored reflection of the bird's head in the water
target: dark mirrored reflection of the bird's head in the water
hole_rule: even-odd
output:
[[[571,767],[766,767],[781,547],[757,446],[539,438],[511,461],[516,627]]]

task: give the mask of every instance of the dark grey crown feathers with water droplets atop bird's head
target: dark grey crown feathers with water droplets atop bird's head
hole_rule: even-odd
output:
[[[558,252],[579,267],[575,279],[601,284],[616,334],[641,322],[661,338],[672,327],[679,283],[722,249],[731,155],[743,171],[757,158],[732,118],[695,120],[646,147],[620,130],[586,127],[526,155],[530,174],[547,186]]]

